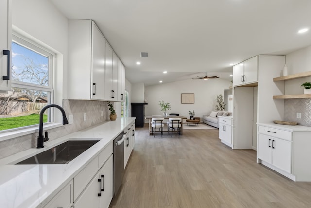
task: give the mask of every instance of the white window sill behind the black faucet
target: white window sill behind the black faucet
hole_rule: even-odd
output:
[[[56,127],[62,126],[61,123],[48,123],[48,124],[43,124],[43,130],[49,130],[53,129]],[[39,125],[35,125],[29,128],[23,128],[23,129],[17,129],[17,130],[12,130],[12,131],[3,131],[0,133],[0,142],[13,139],[19,136],[24,136],[28,135],[31,133],[39,132]]]

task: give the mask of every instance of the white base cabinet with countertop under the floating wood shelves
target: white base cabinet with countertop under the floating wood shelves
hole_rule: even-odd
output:
[[[258,124],[257,162],[293,181],[311,181],[311,127]]]

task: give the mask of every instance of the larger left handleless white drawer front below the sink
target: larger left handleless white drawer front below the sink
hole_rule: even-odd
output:
[[[96,156],[83,170],[78,173],[78,175],[74,177],[74,200],[77,199],[83,189],[86,188],[86,185],[91,181],[95,173],[98,171],[98,158],[99,157]]]

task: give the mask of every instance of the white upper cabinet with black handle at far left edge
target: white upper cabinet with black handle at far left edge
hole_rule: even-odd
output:
[[[11,0],[0,1],[0,93],[11,90]]]

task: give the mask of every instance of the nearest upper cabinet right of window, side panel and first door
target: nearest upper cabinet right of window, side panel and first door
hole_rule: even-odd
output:
[[[92,20],[69,19],[68,98],[104,100],[105,39]]]

